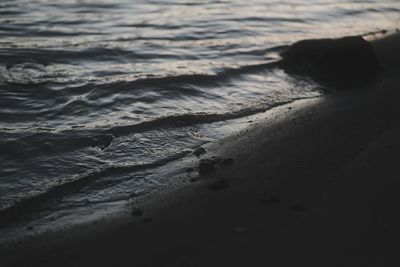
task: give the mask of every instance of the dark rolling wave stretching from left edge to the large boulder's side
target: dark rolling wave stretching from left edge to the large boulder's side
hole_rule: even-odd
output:
[[[204,94],[197,87],[219,87],[232,79],[240,79],[241,75],[269,71],[279,66],[279,62],[267,62],[254,65],[245,65],[238,68],[225,68],[215,74],[184,74],[177,76],[164,76],[140,78],[133,81],[113,81],[109,83],[84,83],[82,85],[62,85],[51,81],[47,69],[38,63],[17,64],[12,68],[0,67],[3,85],[0,85],[0,95],[3,96],[3,105],[0,112],[10,120],[24,120],[26,115],[40,117],[46,115],[47,119],[59,116],[84,114],[91,108],[93,110],[105,108],[99,106],[104,102],[100,99],[111,99],[118,94],[132,94],[135,96],[130,101],[135,101],[140,92],[157,92],[162,94],[173,93],[176,97]],[[41,85],[37,90],[37,85]],[[33,99],[40,100],[32,102]],[[87,101],[86,101],[87,100]],[[137,99],[143,101],[143,99]],[[8,104],[9,103],[9,104]],[[32,103],[36,103],[32,106]],[[109,103],[109,101],[107,101]],[[18,112],[8,110],[11,106],[19,105]],[[78,108],[77,108],[78,105]],[[82,109],[80,107],[84,106]],[[10,113],[11,112],[11,113]],[[72,113],[71,113],[72,112]],[[12,114],[12,116],[11,116]]]

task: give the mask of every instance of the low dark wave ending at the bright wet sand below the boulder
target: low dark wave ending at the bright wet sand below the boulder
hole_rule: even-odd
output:
[[[268,109],[290,103],[297,99],[301,98],[275,102],[269,105],[249,107],[228,113],[174,114],[137,124],[114,126],[109,129],[74,128],[72,130],[59,132],[53,132],[47,129],[45,131],[36,129],[33,134],[28,134],[17,140],[0,144],[0,149],[7,154],[8,158],[14,158],[15,160],[30,157],[34,154],[59,154],[86,147],[97,147],[103,150],[110,146],[113,140],[118,137],[152,130],[166,130],[170,128],[229,121],[265,112]],[[30,129],[30,131],[32,130],[34,129]],[[18,151],[18,153],[16,153],[16,151]]]

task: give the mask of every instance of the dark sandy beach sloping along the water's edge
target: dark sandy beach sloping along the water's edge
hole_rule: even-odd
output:
[[[221,161],[189,186],[3,244],[0,265],[398,266],[398,40],[372,42],[375,82],[274,108],[205,145],[188,167]]]

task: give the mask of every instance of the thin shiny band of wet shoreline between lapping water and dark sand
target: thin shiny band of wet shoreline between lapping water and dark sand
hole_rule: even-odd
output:
[[[126,204],[120,205],[125,206],[125,208],[119,208],[118,210],[110,213],[104,212],[104,215],[95,216],[94,219],[87,219],[78,221],[77,223],[65,224],[62,225],[62,227],[50,227],[44,230],[38,230],[36,227],[28,229],[30,224],[24,224],[22,222],[21,226],[18,228],[5,228],[5,230],[12,230],[12,233],[16,233],[18,230],[25,230],[25,233],[14,238],[0,239],[0,247],[4,244],[35,240],[40,235],[58,235],[60,232],[70,230],[74,231],[73,229],[86,227],[91,228],[93,225],[97,224],[102,225],[103,223],[108,224],[109,222],[112,224],[114,221],[119,221],[121,218],[122,220],[129,220],[129,218],[131,218],[130,210],[132,207],[140,207],[144,210],[146,210],[148,207],[150,207],[152,210],[162,209],[163,206],[167,205],[166,200],[171,199],[171,197],[173,198],[175,194],[179,194],[181,191],[193,190],[193,188],[196,188],[199,184],[207,183],[209,175],[200,175],[198,173],[198,165],[202,159],[220,158],[222,155],[224,155],[225,159],[231,158],[227,152],[222,152],[222,150],[225,148],[231,147],[231,145],[227,145],[226,143],[231,142],[231,140],[234,138],[246,137],[249,129],[256,129],[259,124],[268,123],[268,125],[270,125],[277,123],[284,117],[289,116],[287,112],[292,109],[293,106],[298,108],[304,107],[319,101],[321,98],[323,98],[323,96],[297,99],[286,104],[272,107],[264,113],[253,114],[251,116],[242,118],[242,123],[246,124],[246,126],[242,126],[239,128],[239,130],[235,130],[232,132],[232,134],[221,139],[201,145],[201,148],[207,148],[205,153],[202,153],[198,156],[194,155],[194,153],[189,153],[185,158],[182,159],[182,161],[176,162],[176,164],[178,164],[181,168],[184,167],[186,171],[183,174],[180,173],[177,175],[177,177],[175,177],[175,181],[171,182],[164,188],[160,188],[144,196],[139,196],[128,201]],[[249,122],[248,119],[250,119],[251,122]],[[225,145],[221,145],[222,143]],[[12,234],[9,234],[8,236],[12,236]]]

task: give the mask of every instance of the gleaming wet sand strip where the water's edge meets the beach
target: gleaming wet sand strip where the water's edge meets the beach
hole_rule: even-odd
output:
[[[225,139],[232,139],[234,136],[242,136],[245,132],[248,131],[250,128],[255,128],[256,125],[259,124],[261,121],[268,120],[269,123],[274,123],[276,120],[276,116],[286,116],[284,113],[287,110],[287,107],[290,106],[305,106],[307,103],[312,103],[320,99],[321,96],[310,97],[310,98],[302,98],[302,99],[295,99],[291,102],[287,103],[280,103],[279,105],[272,106],[270,109],[267,109],[265,112],[252,114],[246,117],[242,117],[236,122],[238,124],[232,133],[228,136],[222,137],[212,142],[208,142],[199,146],[198,148],[207,147],[214,147],[212,150],[218,150],[218,145],[215,144],[223,142]],[[273,119],[273,117],[275,117]],[[241,124],[239,126],[239,124]],[[196,148],[196,149],[198,149]],[[196,150],[195,149],[195,150]],[[15,221],[14,224],[16,225],[13,227],[12,223],[8,223],[7,226],[2,228],[2,233],[0,232],[0,247],[2,244],[9,244],[9,243],[18,243],[21,241],[26,241],[30,239],[36,239],[37,236],[40,235],[53,235],[57,234],[61,231],[68,231],[74,228],[81,228],[90,225],[95,225],[100,221],[114,221],[118,220],[121,217],[130,217],[130,207],[140,206],[141,208],[145,208],[147,206],[161,206],[161,202],[165,202],[165,199],[168,199],[169,196],[175,193],[180,192],[181,190],[185,190],[186,187],[196,186],[196,183],[199,179],[198,173],[198,165],[199,161],[203,158],[211,158],[214,155],[214,152],[211,150],[208,153],[201,155],[195,155],[195,150],[192,152],[185,152],[186,156],[176,160],[175,162],[171,162],[171,164],[176,165],[170,168],[174,171],[168,171],[169,173],[175,173],[171,178],[168,178],[168,181],[165,181],[165,185],[150,192],[145,195],[139,195],[129,200],[120,201],[120,203],[116,203],[116,207],[112,208],[111,210],[106,209],[105,211],[97,211],[92,216],[86,216],[84,218],[78,218],[77,221],[73,223],[59,223],[59,224],[52,224],[52,225],[44,225],[35,224],[35,221],[29,221],[26,219],[21,219],[21,221]],[[215,155],[214,155],[215,156]],[[214,157],[213,156],[213,157]],[[165,166],[166,167],[166,166]],[[177,171],[179,173],[177,173]],[[204,178],[204,177],[203,177]],[[201,180],[201,179],[200,179]],[[155,204],[157,203],[157,204]],[[33,207],[34,208],[34,207]],[[21,213],[21,211],[27,211],[29,206],[26,206],[24,209],[15,210],[14,213]],[[29,218],[28,215],[22,215],[20,217]],[[77,215],[78,217],[78,215]],[[89,217],[89,218],[88,218]],[[91,217],[91,218],[90,218]],[[7,217],[6,217],[7,218]],[[33,222],[33,223],[32,223]],[[4,223],[4,222],[2,222]],[[51,223],[51,222],[50,222]],[[21,234],[22,231],[22,234]],[[7,235],[2,235],[7,233]]]

